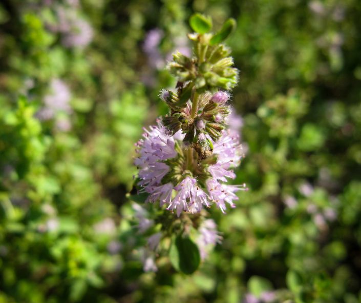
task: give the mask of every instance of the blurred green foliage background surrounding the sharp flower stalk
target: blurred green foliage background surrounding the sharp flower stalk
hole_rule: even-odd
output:
[[[144,273],[134,143],[194,12],[237,21],[250,190],[194,274]],[[0,302],[361,301],[360,28],[357,0],[3,1]]]

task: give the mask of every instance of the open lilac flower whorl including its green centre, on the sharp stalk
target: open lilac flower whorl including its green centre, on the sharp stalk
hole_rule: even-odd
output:
[[[238,200],[235,192],[244,185],[227,185],[227,178],[235,178],[232,171],[242,157],[238,134],[223,130],[218,141],[207,135],[205,139],[213,146],[208,157],[199,156],[197,149],[184,145],[185,134],[178,131],[169,136],[162,126],[152,126],[145,130],[137,143],[138,157],[135,164],[139,168],[139,185],[148,193],[147,202],[159,201],[160,206],[196,213],[202,207],[216,204],[222,212],[226,205],[235,207]]]

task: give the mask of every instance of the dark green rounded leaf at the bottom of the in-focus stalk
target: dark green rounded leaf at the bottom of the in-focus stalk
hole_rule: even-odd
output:
[[[187,275],[193,274],[201,262],[198,246],[189,237],[182,236],[173,238],[169,258],[176,270]]]

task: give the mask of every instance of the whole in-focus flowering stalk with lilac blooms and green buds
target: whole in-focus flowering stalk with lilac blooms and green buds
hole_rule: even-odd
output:
[[[232,168],[243,156],[238,133],[228,128],[231,109],[227,101],[229,90],[237,85],[238,70],[233,67],[230,50],[221,44],[235,21],[228,19],[213,34],[211,19],[195,14],[190,26],[195,31],[188,34],[193,56],[180,52],[173,55],[168,68],[178,79],[176,90],[160,92],[169,112],[158,119],[158,125],[145,129],[136,145],[138,198],[142,194],[145,202],[159,202],[165,211],[149,218],[136,206],[140,232],[151,229],[155,222],[160,225],[148,237],[150,250],[144,258],[144,270],[157,270],[150,255],[154,255],[161,239],[171,237],[173,266],[193,273],[200,259],[206,257],[209,245],[221,239],[215,222],[205,218],[204,208],[216,205],[225,213],[227,204],[235,207],[236,192],[246,190],[245,185],[227,184],[229,178],[236,177]]]

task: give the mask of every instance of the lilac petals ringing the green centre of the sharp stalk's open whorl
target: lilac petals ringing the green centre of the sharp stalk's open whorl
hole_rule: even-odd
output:
[[[178,183],[171,181],[163,183],[163,177],[171,171],[164,163],[166,159],[176,158],[178,152],[175,149],[176,141],[182,145],[184,135],[180,132],[174,136],[168,136],[162,126],[153,126],[145,130],[143,138],[137,143],[138,157],[135,165],[139,168],[139,183],[142,191],[149,194],[147,202],[159,201],[160,206],[166,205],[171,211],[176,211],[180,216],[182,211],[197,213],[203,206],[209,207],[216,204],[224,213],[226,204],[235,207],[234,200],[238,200],[235,194],[239,190],[246,190],[244,186],[227,185],[227,178],[235,178],[232,167],[238,166],[242,157],[242,149],[239,144],[239,136],[232,131],[223,131],[221,138],[213,142],[214,154],[217,161],[213,165],[204,167],[209,177],[205,188],[202,188],[197,180],[197,175],[184,174],[184,178]]]

